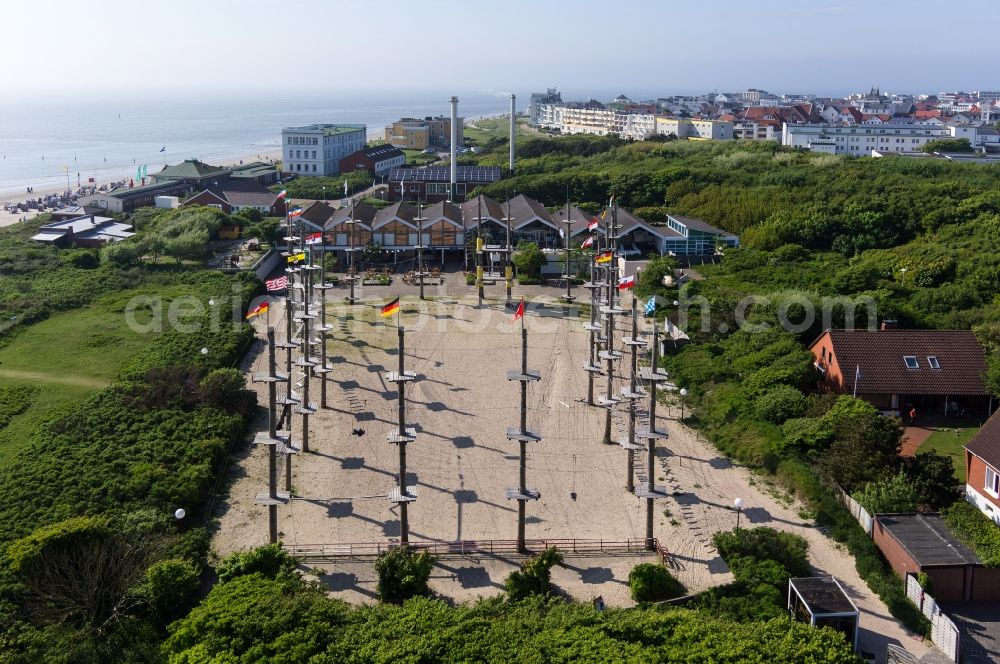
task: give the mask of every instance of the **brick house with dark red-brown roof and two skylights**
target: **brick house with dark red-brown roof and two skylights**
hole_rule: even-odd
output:
[[[884,414],[987,413],[986,356],[969,330],[827,330],[810,350],[822,388]]]

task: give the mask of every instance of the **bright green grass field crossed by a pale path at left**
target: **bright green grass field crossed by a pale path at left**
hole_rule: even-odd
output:
[[[31,405],[0,428],[0,465],[10,461],[39,424],[106,387],[156,335],[129,329],[125,307],[137,295],[170,300],[190,289],[147,286],[18,329],[0,341],[0,382],[35,388]],[[137,318],[141,318],[137,315]]]

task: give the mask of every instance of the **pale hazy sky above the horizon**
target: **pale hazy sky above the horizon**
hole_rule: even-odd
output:
[[[564,98],[1000,88],[1000,2],[4,0],[7,99],[454,90]]]

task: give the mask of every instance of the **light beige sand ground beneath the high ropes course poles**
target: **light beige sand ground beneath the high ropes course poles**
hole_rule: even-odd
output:
[[[418,380],[407,389],[407,424],[417,429],[408,447],[408,477],[418,500],[409,511],[411,541],[510,540],[516,531],[516,504],[506,487],[517,483],[517,445],[505,430],[518,421],[519,392],[506,370],[519,366],[518,324],[502,303],[477,309],[471,288],[454,286],[459,298],[420,303],[404,297],[406,369]],[[558,289],[525,289],[532,306],[526,316],[529,368],[542,380],[529,386],[528,426],[542,441],[529,445],[528,485],[541,499],[527,508],[527,537],[642,538],[645,501],[624,490],[626,453],[602,443],[604,411],[585,402],[587,333],[579,312],[555,302]],[[404,296],[405,296],[404,292]],[[393,293],[392,295],[395,295]],[[520,293],[515,293],[515,298]],[[310,452],[293,461],[294,499],[279,508],[279,530],[288,545],[386,542],[399,536],[397,508],[386,499],[395,485],[397,450],[386,442],[396,423],[396,388],[386,371],[396,369],[396,329],[378,318],[387,297],[348,309],[327,305],[327,354],[335,370],[328,376],[328,407],[310,421]],[[423,313],[415,313],[423,307]],[[626,321],[622,321],[625,323]],[[284,323],[272,319],[279,330]],[[263,336],[263,335],[261,335]],[[283,351],[279,351],[279,364]],[[251,358],[262,371],[265,356]],[[251,366],[252,365],[252,366]],[[625,360],[616,367],[615,391],[624,385]],[[320,381],[311,381],[311,401],[320,405]],[[604,382],[599,379],[598,393]],[[266,388],[258,386],[266,403]],[[732,464],[679,421],[678,404],[660,407],[658,422],[670,438],[657,456],[658,483],[674,495],[657,502],[655,536],[671,553],[676,576],[692,592],[726,583],[731,575],[711,544],[711,536],[736,525],[733,499],[745,501],[741,525],[766,525],[795,532],[810,544],[818,573],[837,577],[862,611],[862,649],[884,658],[886,643],[901,643],[916,655],[927,646],[889,616],[884,604],[858,576],[854,561],[800,516],[801,507],[764,479]],[[625,430],[627,414],[614,412],[614,429]],[[352,435],[352,429],[364,434]],[[301,438],[301,417],[293,422]],[[639,481],[645,479],[637,455]],[[641,457],[641,458],[640,458]],[[249,450],[234,470],[228,499],[219,506],[213,548],[219,555],[267,541],[265,509],[254,497],[266,490],[266,450]],[[808,516],[808,515],[804,515]],[[654,558],[645,558],[652,560]],[[628,606],[628,570],[643,557],[570,558],[554,573],[567,594],[589,600],[601,595],[609,605]],[[432,587],[459,601],[499,592],[519,560],[469,557],[442,560]],[[375,574],[370,561],[316,565],[336,594],[371,601]]]

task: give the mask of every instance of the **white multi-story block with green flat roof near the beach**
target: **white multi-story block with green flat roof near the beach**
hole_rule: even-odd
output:
[[[365,147],[363,124],[313,124],[281,130],[281,156],[286,173],[330,176],[340,173],[340,160]]]

